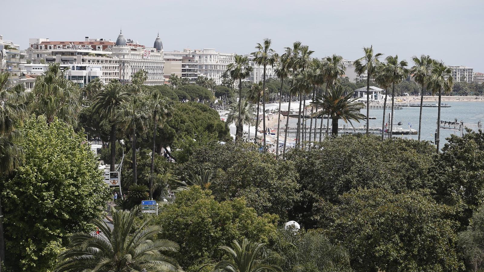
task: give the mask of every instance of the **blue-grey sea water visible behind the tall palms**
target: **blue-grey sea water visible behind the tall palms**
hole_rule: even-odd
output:
[[[431,102],[430,102],[431,103]],[[477,102],[477,101],[443,101],[447,105],[451,105],[451,107],[442,107],[440,108],[440,120],[442,121],[450,121],[454,122],[457,119],[458,122],[463,121],[466,124],[473,124],[477,126],[478,121],[481,121],[484,124],[484,102]],[[435,140],[435,132],[437,129],[437,107],[423,107],[422,110],[422,140],[434,141]],[[362,109],[361,112],[366,114],[366,109]],[[388,121],[388,113],[390,109],[385,111],[385,123],[390,123]],[[404,129],[415,129],[418,131],[419,129],[419,112],[420,107],[403,107],[402,109],[394,110],[393,116],[393,124],[397,124],[401,122],[401,127]],[[370,127],[381,128],[382,118],[383,118],[383,109],[370,109],[370,117],[376,117],[376,119],[370,120]],[[319,128],[319,122],[321,119],[318,119],[317,127]],[[323,119],[323,125],[326,125],[327,120]],[[309,127],[309,120],[307,121],[307,127]],[[331,121],[330,121],[331,123]],[[359,123],[356,121],[352,121],[353,126],[363,127],[366,124],[365,120],[360,121]],[[331,125],[331,124],[330,124]],[[297,118],[291,118],[289,120],[289,127],[297,126]],[[348,123],[345,123],[343,120],[339,120],[339,126],[343,127],[351,127]],[[483,126],[484,127],[484,126]],[[440,129],[440,143],[443,146],[444,143],[447,141],[445,138],[449,137],[451,134],[459,135],[460,131],[458,130],[451,130],[451,129]],[[418,139],[418,135],[395,135],[396,137],[404,137],[404,138],[411,138],[411,139]],[[318,138],[318,137],[317,137]]]

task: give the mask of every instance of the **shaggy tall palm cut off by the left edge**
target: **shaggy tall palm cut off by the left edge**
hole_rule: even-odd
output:
[[[18,143],[22,135],[15,130],[15,124],[27,116],[25,108],[25,85],[9,85],[10,73],[0,73],[0,180],[12,173],[24,158]],[[5,259],[3,237],[3,215],[0,196],[0,260]]]

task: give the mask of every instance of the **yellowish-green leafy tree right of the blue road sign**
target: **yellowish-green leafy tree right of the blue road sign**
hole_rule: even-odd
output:
[[[275,235],[277,216],[258,216],[243,199],[218,202],[211,195],[209,190],[192,186],[177,193],[173,204],[164,206],[150,223],[163,228],[160,238],[180,244],[173,257],[188,271],[220,259],[217,248],[234,239],[268,242]]]

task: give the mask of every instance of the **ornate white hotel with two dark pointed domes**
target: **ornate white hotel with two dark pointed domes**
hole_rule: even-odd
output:
[[[126,39],[120,31],[115,45],[107,50],[112,51],[112,56],[119,60],[119,80],[121,83],[131,83],[132,76],[143,69],[148,72],[145,85],[164,84],[165,60],[163,59],[163,43],[159,34],[153,47],[147,47],[137,43],[126,43]]]

